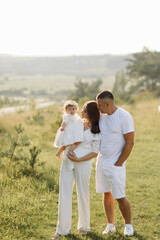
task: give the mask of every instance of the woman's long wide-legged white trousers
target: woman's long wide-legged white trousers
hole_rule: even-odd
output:
[[[73,169],[69,167],[69,161],[62,162],[60,171],[57,232],[62,235],[67,235],[71,231],[74,181],[76,181],[78,196],[79,220],[77,228],[90,230],[89,180],[92,161],[74,162]]]

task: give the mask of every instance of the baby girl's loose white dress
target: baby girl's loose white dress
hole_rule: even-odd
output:
[[[64,131],[60,131],[60,128],[58,129],[54,142],[55,147],[84,141],[84,125],[77,113],[74,115],[64,113],[63,122],[66,124],[66,127]]]

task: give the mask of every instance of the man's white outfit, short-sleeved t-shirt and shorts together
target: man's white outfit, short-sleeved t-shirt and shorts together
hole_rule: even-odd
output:
[[[96,191],[111,192],[114,198],[125,196],[126,169],[115,166],[125,145],[124,134],[134,132],[131,115],[122,108],[100,118],[101,145],[96,163]]]

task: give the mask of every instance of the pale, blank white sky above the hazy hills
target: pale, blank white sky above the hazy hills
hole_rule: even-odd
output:
[[[160,0],[0,0],[0,54],[160,51]]]

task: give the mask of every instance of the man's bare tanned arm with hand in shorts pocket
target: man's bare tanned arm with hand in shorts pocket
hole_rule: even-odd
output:
[[[122,166],[125,160],[129,157],[134,145],[134,132],[124,134],[124,138],[126,143],[122,149],[122,153],[119,156],[118,161],[115,163],[115,166]]]

